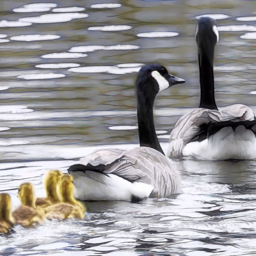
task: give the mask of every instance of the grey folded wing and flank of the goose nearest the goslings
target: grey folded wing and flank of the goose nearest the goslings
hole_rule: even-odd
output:
[[[106,173],[151,184],[154,188],[151,196],[167,197],[181,192],[181,179],[175,167],[175,162],[159,151],[138,147],[127,151]]]

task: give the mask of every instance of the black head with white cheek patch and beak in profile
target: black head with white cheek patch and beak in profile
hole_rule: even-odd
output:
[[[145,94],[156,94],[175,84],[183,84],[185,80],[172,76],[168,73],[165,67],[159,64],[147,64],[143,66],[136,80],[138,91],[143,91]]]

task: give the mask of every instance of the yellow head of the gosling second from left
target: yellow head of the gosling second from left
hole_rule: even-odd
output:
[[[18,191],[18,198],[21,204],[35,208],[34,187],[32,183],[21,184]]]

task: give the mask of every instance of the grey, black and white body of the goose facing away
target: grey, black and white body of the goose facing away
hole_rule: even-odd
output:
[[[167,155],[198,160],[255,159],[256,154],[248,151],[254,151],[254,113],[245,105],[234,106],[221,111],[198,108],[181,116],[171,132]]]

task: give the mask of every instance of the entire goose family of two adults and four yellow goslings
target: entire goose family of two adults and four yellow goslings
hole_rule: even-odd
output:
[[[215,103],[213,60],[219,40],[215,20],[201,17],[195,37],[200,105],[178,119],[170,134],[167,156],[199,160],[256,159],[253,110],[236,104],[219,111]],[[70,166],[70,175],[49,171],[44,180],[46,198],[35,199],[32,184],[21,184],[18,192],[21,206],[12,213],[10,196],[0,194],[0,232],[8,232],[13,224],[29,227],[45,218],[83,218],[85,207],[75,198],[138,202],[181,193],[180,175],[157,139],[153,105],[157,93],[184,82],[160,64],[142,67],[135,84],[140,147],[129,151],[113,148],[94,151]]]

